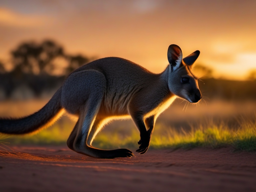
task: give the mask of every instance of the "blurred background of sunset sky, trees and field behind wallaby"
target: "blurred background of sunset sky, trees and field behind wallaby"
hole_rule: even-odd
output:
[[[1,0],[0,116],[39,110],[70,72],[98,58],[122,57],[160,73],[168,46],[177,44],[184,56],[201,52],[194,72],[203,100],[177,99],[154,134],[204,124],[240,129],[242,121],[255,122],[255,7],[254,0]],[[8,139],[63,143],[73,125],[64,117],[39,135]],[[114,122],[96,144],[106,146],[110,136],[114,141],[113,132],[116,140],[139,138],[132,121]]]

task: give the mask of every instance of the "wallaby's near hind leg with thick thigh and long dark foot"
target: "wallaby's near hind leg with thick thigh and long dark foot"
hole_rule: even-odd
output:
[[[68,146],[78,153],[96,158],[132,157],[132,152],[127,149],[101,150],[87,144],[105,90],[105,76],[96,70],[75,72],[64,82],[62,105],[68,112],[79,115],[79,120],[68,139]],[[97,129],[93,129],[90,142],[95,133]]]

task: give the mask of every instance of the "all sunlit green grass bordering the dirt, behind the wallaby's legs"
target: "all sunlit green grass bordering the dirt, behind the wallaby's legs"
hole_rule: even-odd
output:
[[[11,144],[64,144],[72,130],[73,123],[67,119],[55,124],[49,129],[42,130],[35,135],[12,136],[2,138],[2,141]],[[165,130],[165,131],[163,131]],[[97,135],[93,146],[102,149],[138,148],[139,133],[131,128],[129,134],[121,129],[105,130]],[[172,127],[156,124],[150,148],[219,148],[233,146],[237,151],[256,151],[256,124],[252,121],[243,121],[240,128],[232,129],[225,123],[199,123],[188,131],[172,129]]]

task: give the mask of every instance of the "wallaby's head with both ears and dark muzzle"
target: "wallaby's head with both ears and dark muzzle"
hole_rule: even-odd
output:
[[[199,54],[200,51],[195,51],[182,59],[182,51],[177,45],[170,45],[167,52],[170,64],[168,72],[169,90],[191,103],[197,103],[202,98],[197,77],[191,71]]]

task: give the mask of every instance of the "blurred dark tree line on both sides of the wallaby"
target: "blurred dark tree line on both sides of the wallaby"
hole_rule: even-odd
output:
[[[53,40],[23,42],[10,56],[11,70],[0,60],[0,100],[52,95],[70,72],[92,60],[68,54]],[[209,99],[256,99],[256,69],[249,72],[248,81],[214,79],[213,70],[200,64],[194,71],[202,75],[199,87]]]

